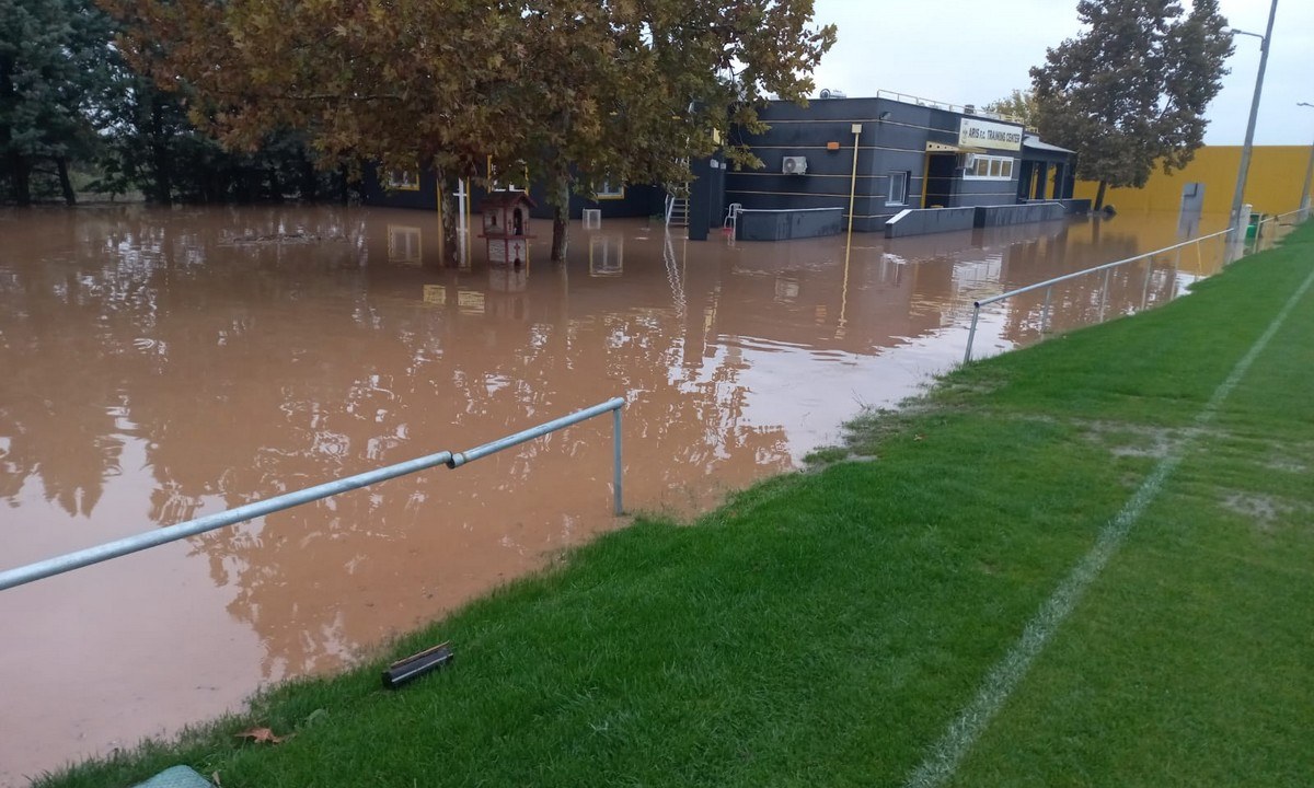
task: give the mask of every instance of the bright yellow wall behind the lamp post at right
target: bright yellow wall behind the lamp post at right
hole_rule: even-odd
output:
[[[1310,146],[1256,146],[1246,177],[1246,202],[1267,214],[1298,209],[1309,160]],[[1143,189],[1110,188],[1104,202],[1122,213],[1176,213],[1181,206],[1181,188],[1189,183],[1202,183],[1204,211],[1227,214],[1231,211],[1239,167],[1240,146],[1206,146],[1196,151],[1196,158],[1184,169],[1173,171],[1172,175],[1155,169]],[[1093,200],[1099,188],[1097,183],[1077,181],[1075,197]]]

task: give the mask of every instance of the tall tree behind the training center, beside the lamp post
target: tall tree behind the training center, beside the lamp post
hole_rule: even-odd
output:
[[[1143,186],[1160,164],[1184,167],[1204,144],[1205,108],[1233,51],[1217,0],[1081,0],[1088,29],[1031,68],[1035,126],[1077,152],[1077,176]]]

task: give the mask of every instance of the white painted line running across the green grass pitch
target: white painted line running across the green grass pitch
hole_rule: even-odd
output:
[[[1100,536],[1096,538],[1091,552],[1081,558],[1049,600],[1041,605],[1035,617],[1028,621],[1022,636],[1008,650],[1004,659],[995,665],[986,675],[986,680],[982,682],[980,690],[978,690],[972,703],[949,725],[945,735],[928,753],[926,759],[908,776],[907,788],[933,788],[942,785],[947,779],[954,776],[963,755],[980,738],[986,726],[989,725],[991,720],[1008,700],[1008,696],[1021,683],[1031,662],[1045,649],[1045,645],[1063,624],[1063,620],[1068,617],[1072,608],[1076,607],[1076,603],[1081,599],[1091,582],[1100,575],[1100,571],[1104,570],[1109,559],[1118,552],[1127,532],[1131,531],[1131,525],[1135,524],[1146,507],[1159,495],[1164,481],[1181,464],[1181,458],[1190,448],[1190,444],[1198,437],[1202,428],[1214,420],[1223,401],[1236,389],[1240,380],[1246,377],[1250,365],[1264,352],[1269,340],[1273,339],[1277,330],[1286,322],[1288,315],[1296,309],[1297,302],[1309,292],[1310,285],[1314,285],[1314,272],[1306,277],[1305,282],[1292,294],[1286,305],[1282,306],[1282,310],[1277,313],[1277,317],[1273,318],[1273,322],[1268,324],[1264,334],[1255,340],[1250,351],[1236,362],[1227,380],[1214,390],[1213,397],[1209,398],[1204,410],[1196,416],[1192,427],[1187,429],[1185,439],[1179,444],[1176,452],[1169,453],[1159,461],[1135,494],[1123,504],[1117,516],[1100,531]]]

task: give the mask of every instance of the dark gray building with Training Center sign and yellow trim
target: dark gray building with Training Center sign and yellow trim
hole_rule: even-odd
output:
[[[1053,211],[997,209],[1020,202],[1071,198],[1075,155],[1026,134],[1000,117],[945,104],[886,95],[872,98],[816,98],[808,106],[774,101],[759,117],[770,127],[749,134],[729,131],[731,144],[746,144],[762,169],[727,168],[721,155],[691,162],[694,180],[677,211],[689,238],[703,240],[720,227],[733,206],[746,209],[744,239],[781,240],[841,232],[848,225],[853,192],[853,229],[884,231],[904,210],[991,206],[974,211],[904,217],[899,234],[924,234],[996,223],[1049,218]],[[855,131],[857,130],[857,131]],[[857,143],[857,175],[854,175]],[[380,172],[367,168],[367,204],[436,208],[432,172]],[[485,193],[474,188],[470,205]],[[532,185],[535,217],[551,217],[547,194]],[[681,192],[683,193],[683,192]],[[629,184],[607,189],[597,200],[570,198],[570,218],[598,209],[602,218],[649,217],[666,209],[666,192]],[[821,209],[821,210],[819,210]],[[1067,201],[1064,210],[1080,210]],[[980,214],[982,211],[976,211]],[[895,232],[891,225],[888,232]]]

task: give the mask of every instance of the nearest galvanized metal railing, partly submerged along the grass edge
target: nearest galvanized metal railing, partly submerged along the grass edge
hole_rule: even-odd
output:
[[[568,416],[561,416],[560,419],[544,422],[537,427],[522,429],[520,432],[516,432],[514,435],[501,437],[498,440],[486,443],[473,449],[468,449],[465,452],[455,452],[455,453],[439,452],[436,454],[418,457],[415,460],[409,460],[406,462],[389,465],[388,468],[380,468],[377,470],[369,470],[365,473],[359,473],[356,475],[350,475],[346,478],[334,479],[331,482],[325,482],[323,485],[315,485],[314,487],[306,487],[305,490],[297,490],[296,492],[285,492],[275,498],[259,500],[256,503],[248,503],[246,506],[239,506],[237,508],[231,508],[225,512],[206,515],[204,517],[188,520],[187,523],[179,523],[177,525],[158,528],[155,531],[148,531],[146,533],[138,533],[135,536],[127,536],[112,542],[105,542],[95,548],[87,548],[84,550],[76,550],[74,553],[57,556],[55,558],[47,558],[45,561],[38,561],[35,563],[28,563],[26,566],[18,566],[16,569],[0,571],[0,591],[4,591],[5,588],[13,588],[14,586],[22,586],[25,583],[32,583],[34,580],[50,578],[58,574],[64,574],[66,571],[72,571],[75,569],[81,569],[84,566],[91,566],[92,563],[109,561],[110,558],[118,558],[121,556],[127,556],[130,553],[137,553],[141,550],[146,550],[148,548],[155,548],[163,544],[177,541],[180,538],[187,538],[189,536],[196,536],[198,533],[205,533],[208,531],[215,531],[218,528],[225,528],[227,525],[243,523],[246,520],[288,510],[294,506],[310,503],[313,500],[330,498],[332,495],[338,495],[339,492],[359,490],[360,487],[365,487],[368,485],[385,482],[388,479],[394,479],[397,477],[411,474],[419,470],[427,470],[430,468],[435,468],[439,465],[445,465],[451,469],[456,469],[469,462],[474,462],[476,460],[487,457],[489,454],[495,454],[503,449],[509,449],[511,447],[535,440],[537,437],[543,437],[549,432],[556,432],[557,429],[564,429],[566,427],[570,427],[572,424],[578,424],[579,422],[586,422],[594,416],[600,416],[602,414],[608,411],[611,411],[612,414],[612,466],[614,466],[612,494],[615,498],[614,511],[619,516],[623,512],[622,479],[620,479],[620,411],[624,407],[625,407],[625,401],[620,397],[615,397],[612,399],[608,399],[607,402],[598,403],[593,407],[586,407]]]

